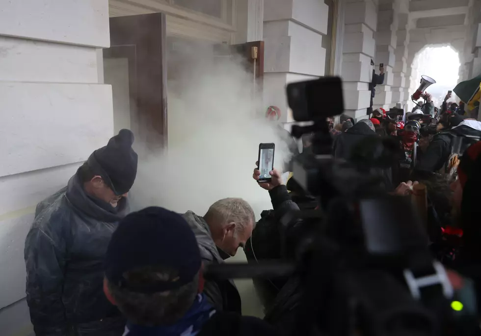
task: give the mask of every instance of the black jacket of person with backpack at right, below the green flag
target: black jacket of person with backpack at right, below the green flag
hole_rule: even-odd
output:
[[[467,125],[471,121],[478,123],[475,120],[466,120],[451,130],[436,134],[429,143],[426,153],[423,154],[421,160],[416,165],[416,170],[419,172],[437,172],[445,167],[452,153],[452,140],[454,137],[480,137],[481,129],[475,129]]]

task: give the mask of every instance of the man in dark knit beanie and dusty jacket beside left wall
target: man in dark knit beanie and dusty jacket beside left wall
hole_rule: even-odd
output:
[[[125,320],[103,294],[103,261],[137,174],[134,135],[121,130],[67,187],[40,202],[25,241],[27,303],[36,336],[117,336]]]

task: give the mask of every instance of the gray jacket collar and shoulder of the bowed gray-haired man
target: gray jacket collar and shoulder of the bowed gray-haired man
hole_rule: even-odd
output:
[[[192,211],[187,211],[182,216],[185,218],[192,231],[194,231],[202,259],[209,262],[215,261],[221,263],[223,258],[220,256],[217,246],[212,239],[211,230],[209,229],[207,222]]]

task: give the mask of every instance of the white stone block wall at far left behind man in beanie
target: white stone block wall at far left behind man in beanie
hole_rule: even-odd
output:
[[[0,265],[8,270],[0,329],[20,335],[29,320],[12,309],[27,309],[19,300],[35,206],[113,133],[112,90],[99,84],[96,52],[110,44],[108,1],[1,0],[0,8]]]

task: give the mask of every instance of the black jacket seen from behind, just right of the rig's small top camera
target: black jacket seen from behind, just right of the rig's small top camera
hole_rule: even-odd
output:
[[[352,150],[366,137],[376,137],[367,124],[358,122],[334,140],[334,157],[349,160]]]

